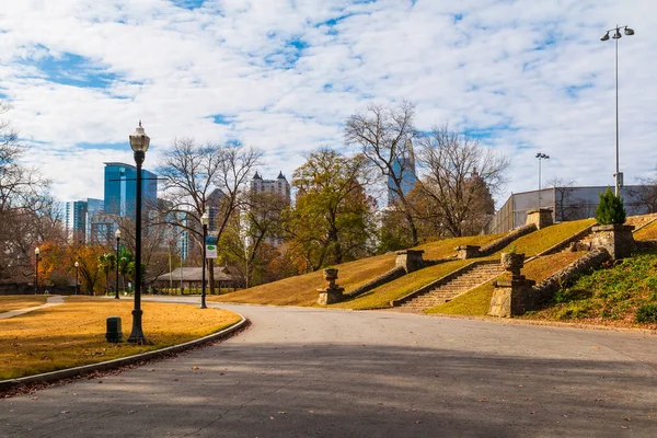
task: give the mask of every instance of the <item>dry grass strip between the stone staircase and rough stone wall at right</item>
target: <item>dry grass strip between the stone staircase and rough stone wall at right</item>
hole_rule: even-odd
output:
[[[583,252],[564,252],[552,255],[545,255],[535,258],[528,263],[522,269],[522,274],[537,283],[544,280],[552,274],[555,274],[581,257],[585,253]],[[503,276],[498,278],[504,278]],[[447,314],[462,314],[462,315],[485,315],[488,312],[491,304],[491,298],[493,298],[493,280],[481,285],[468,293],[463,293],[453,300],[446,302],[445,304],[437,306],[431,309],[427,309],[427,313],[447,313]]]

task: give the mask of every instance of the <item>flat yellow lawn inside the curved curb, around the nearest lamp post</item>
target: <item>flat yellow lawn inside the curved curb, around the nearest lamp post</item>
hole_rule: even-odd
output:
[[[105,342],[105,320],[120,316],[130,334],[131,301],[71,297],[67,302],[0,320],[0,380],[101,362],[168,347],[226,328],[237,313],[194,306],[143,302],[143,333],[153,345]]]

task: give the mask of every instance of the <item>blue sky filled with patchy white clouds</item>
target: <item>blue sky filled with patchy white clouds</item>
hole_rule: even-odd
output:
[[[103,162],[134,163],[139,120],[153,169],[175,138],[264,151],[291,174],[319,147],[345,152],[346,118],[416,104],[511,159],[511,192],[563,178],[613,186],[614,39],[620,168],[657,176],[654,0],[0,0],[0,100],[25,162],[60,200],[103,197]]]

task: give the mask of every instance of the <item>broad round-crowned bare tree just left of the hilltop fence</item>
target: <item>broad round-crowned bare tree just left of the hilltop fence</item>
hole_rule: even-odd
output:
[[[424,208],[416,211],[447,235],[479,232],[495,212],[492,193],[506,182],[509,160],[445,125],[422,139],[418,163],[426,175],[417,184]]]

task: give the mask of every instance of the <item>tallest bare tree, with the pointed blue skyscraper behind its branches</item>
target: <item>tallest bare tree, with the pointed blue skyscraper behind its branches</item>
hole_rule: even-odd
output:
[[[345,126],[345,141],[358,145],[364,155],[388,180],[392,196],[390,207],[400,211],[406,220],[413,245],[417,245],[417,227],[407,193],[408,181],[415,181],[412,140],[417,136],[415,105],[402,102],[395,106],[371,104],[366,113],[349,116]]]

